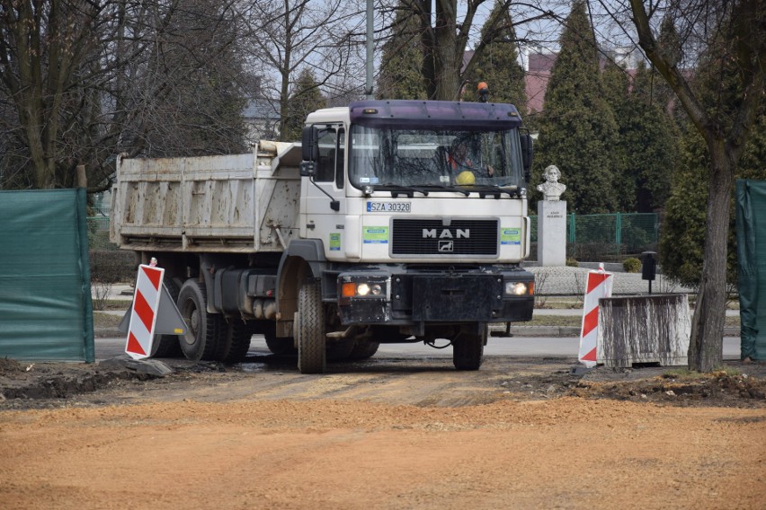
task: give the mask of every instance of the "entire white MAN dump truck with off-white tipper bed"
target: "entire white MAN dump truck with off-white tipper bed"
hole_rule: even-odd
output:
[[[509,104],[352,102],[300,144],[120,157],[111,240],[158,259],[187,322],[156,356],[236,362],[261,333],[305,374],[383,342],[477,370],[490,324],[532,316],[531,152]]]

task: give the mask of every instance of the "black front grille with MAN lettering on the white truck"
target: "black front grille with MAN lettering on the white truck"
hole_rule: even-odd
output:
[[[391,254],[497,256],[497,219],[452,220],[394,219]]]

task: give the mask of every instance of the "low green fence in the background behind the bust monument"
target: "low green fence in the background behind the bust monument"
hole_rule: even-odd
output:
[[[531,240],[538,241],[538,217],[531,218]],[[656,251],[659,216],[654,213],[566,215],[566,255],[578,260],[620,259]]]

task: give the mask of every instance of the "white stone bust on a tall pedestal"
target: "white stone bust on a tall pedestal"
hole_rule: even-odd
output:
[[[543,172],[545,182],[538,186],[543,199],[538,202],[538,263],[540,266],[566,266],[566,201],[561,194],[566,186],[558,180],[561,171],[550,165]]]

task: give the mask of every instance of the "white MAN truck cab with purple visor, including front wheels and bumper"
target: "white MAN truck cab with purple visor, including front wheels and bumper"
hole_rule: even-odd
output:
[[[512,105],[357,101],[310,114],[301,152],[276,331],[302,372],[441,339],[475,370],[490,324],[531,319],[531,143]]]

